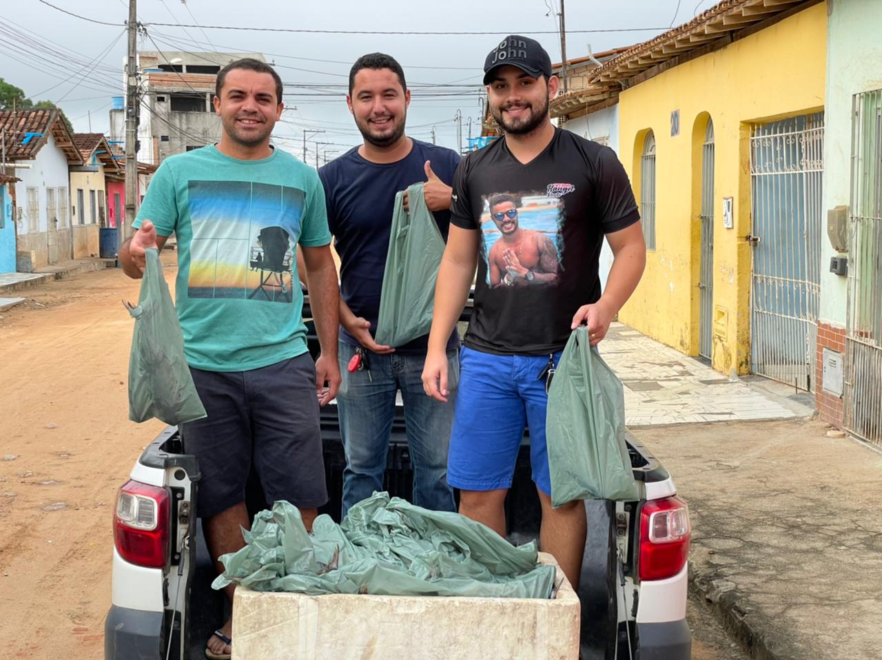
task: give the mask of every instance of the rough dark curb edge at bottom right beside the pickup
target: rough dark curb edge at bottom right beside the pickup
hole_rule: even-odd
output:
[[[736,587],[735,582],[701,574],[690,563],[689,589],[710,605],[726,632],[741,644],[751,658],[793,660],[794,656],[771,648],[775,644],[770,643],[765,631],[756,625],[757,618],[751,616],[751,607],[746,604],[747,596]]]

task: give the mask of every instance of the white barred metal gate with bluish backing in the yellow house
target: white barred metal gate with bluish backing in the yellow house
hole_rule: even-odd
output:
[[[754,126],[751,369],[814,391],[824,115]]]

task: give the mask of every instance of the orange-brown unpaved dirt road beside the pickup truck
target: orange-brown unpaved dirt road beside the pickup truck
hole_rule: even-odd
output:
[[[175,256],[163,255],[169,285]],[[138,282],[108,269],[15,295],[26,304],[0,312],[0,648],[101,658],[116,489],[162,428],[128,421],[120,301]],[[696,660],[743,657],[694,604],[690,623]]]

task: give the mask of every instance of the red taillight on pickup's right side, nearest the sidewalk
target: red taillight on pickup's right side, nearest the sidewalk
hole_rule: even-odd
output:
[[[653,499],[640,511],[640,580],[678,574],[689,554],[689,507],[677,497]]]

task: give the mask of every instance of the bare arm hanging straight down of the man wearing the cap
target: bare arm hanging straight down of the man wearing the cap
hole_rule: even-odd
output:
[[[422,389],[438,401],[447,401],[447,340],[466,306],[468,289],[475,279],[478,240],[477,229],[461,229],[451,224],[438,267],[429,349],[422,370]]]

